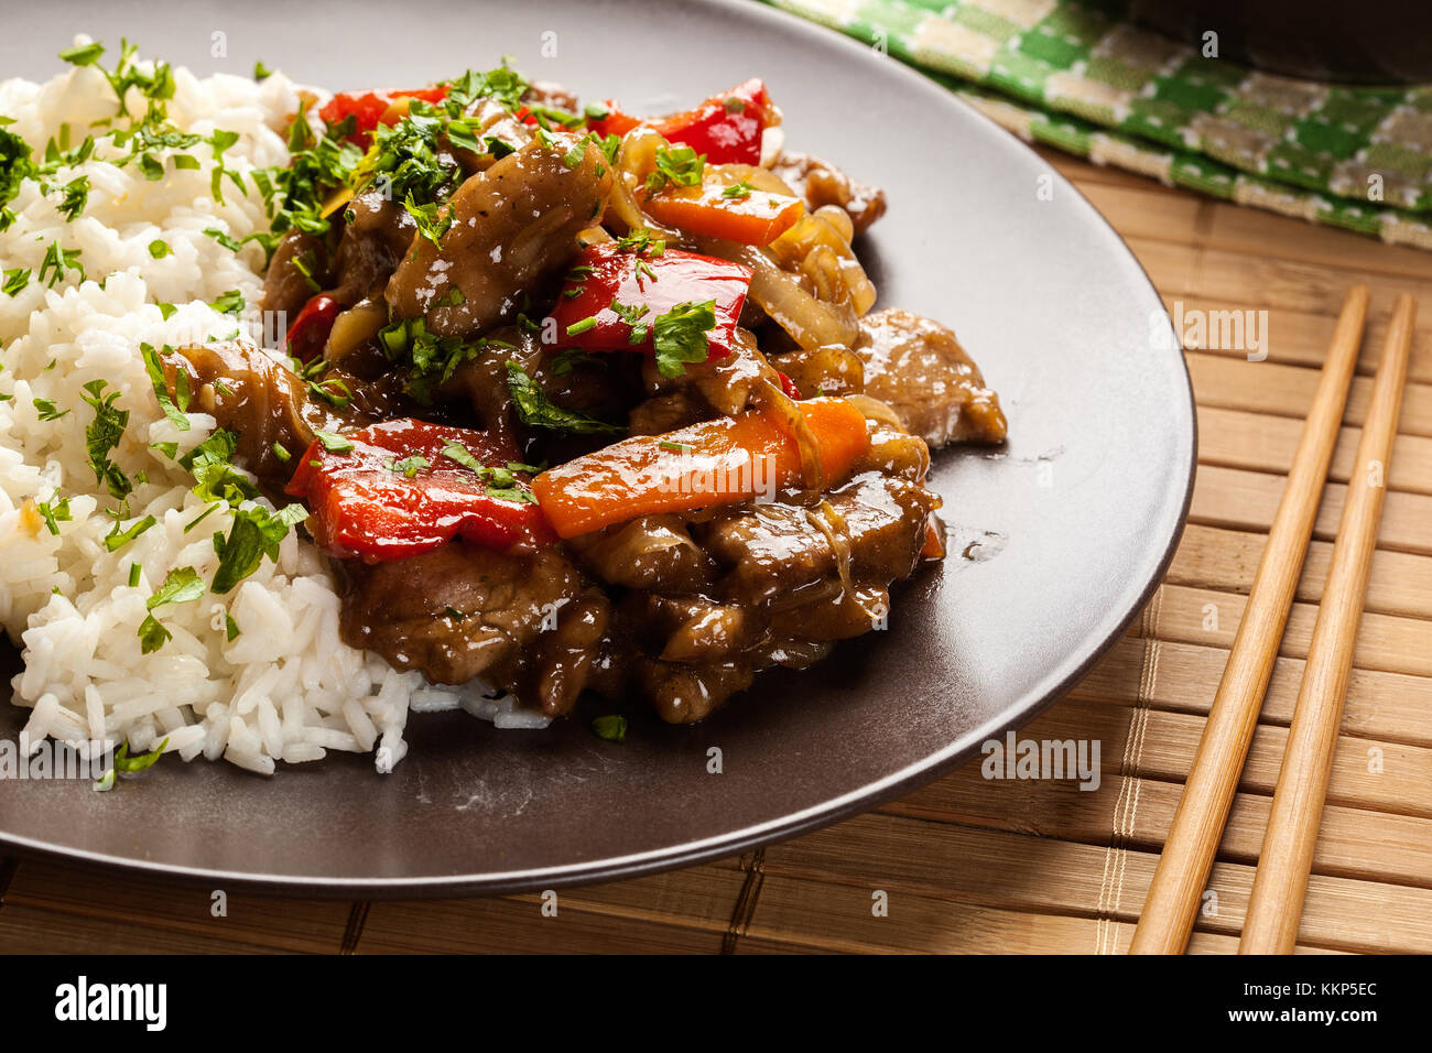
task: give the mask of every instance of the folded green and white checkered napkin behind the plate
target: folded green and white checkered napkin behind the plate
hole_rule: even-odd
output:
[[[766,0],[1011,132],[1240,205],[1432,249],[1432,86],[1257,73],[1084,0]]]

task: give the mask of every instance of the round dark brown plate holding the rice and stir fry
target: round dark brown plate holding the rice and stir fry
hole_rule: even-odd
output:
[[[886,188],[863,246],[881,302],[932,315],[1010,414],[998,454],[937,457],[957,547],[895,593],[886,632],[759,679],[692,728],[583,721],[498,732],[414,716],[379,778],[335,756],[274,779],[165,764],[116,792],[11,782],[0,844],[291,891],[546,888],[732,855],[928,782],[1060,696],[1163,573],[1183,523],[1194,418],[1158,297],[1098,213],[1034,153],[892,60],[753,3],[427,0],[411,20],[352,3],[54,6],[11,13],[7,73],[52,74],[84,29],[200,70],[256,57],[334,87],[425,83],[516,56],[530,76],[652,110],[762,74],[790,143]],[[228,34],[229,59],[209,57]],[[554,33],[544,37],[543,33]],[[554,42],[557,57],[543,57]],[[1041,186],[1053,189],[1045,201]],[[23,712],[0,706],[0,734]],[[707,751],[722,751],[709,774]]]

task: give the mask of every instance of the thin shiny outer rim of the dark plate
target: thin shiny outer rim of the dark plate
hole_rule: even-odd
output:
[[[868,59],[866,53],[869,49],[849,36],[845,36],[838,29],[819,21],[800,19],[766,3],[752,3],[750,0],[686,0],[683,6],[706,9],[709,11],[739,10],[746,17],[755,17],[758,20],[765,19],[772,24],[780,24],[789,32],[803,34],[816,47],[836,49],[838,52],[843,50],[852,56],[861,54],[863,59]],[[967,116],[972,116],[977,123],[984,125],[987,130],[994,133],[988,138],[988,142],[997,145],[998,149],[1012,153],[1027,153],[1035,158],[1038,156],[1027,142],[1000,126],[991,117],[985,116],[978,109],[958,97],[958,95],[949,89],[942,87],[898,59],[888,59],[886,62],[891,67],[891,76],[898,80],[904,80],[911,90],[921,93],[937,106],[957,106],[964,110]],[[1093,205],[1093,202],[1090,202],[1088,198],[1085,198],[1068,179],[1065,179],[1061,172],[1051,168],[1048,175],[1053,176],[1054,185],[1058,186],[1061,192],[1067,192],[1073,195],[1077,202],[1081,202],[1090,216],[1095,221],[1095,225],[1103,228],[1106,238],[1113,239],[1114,252],[1123,255],[1123,262],[1126,265],[1133,265],[1133,274],[1143,281],[1153,298],[1151,302],[1157,304],[1158,309],[1167,317],[1167,309],[1163,307],[1163,299],[1153,279],[1148,277],[1147,269],[1128,248],[1127,242],[1114,229],[1113,223],[1110,223],[1108,219]],[[1173,331],[1171,325],[1170,331]],[[107,852],[97,852],[70,845],[46,844],[37,838],[14,835],[4,830],[0,830],[0,847],[21,858],[64,860],[87,867],[127,871],[156,878],[195,883],[221,881],[225,887],[241,888],[248,893],[289,897],[302,895],[305,898],[325,900],[400,900],[442,895],[500,895],[531,891],[534,888],[570,888],[573,885],[619,881],[667,870],[680,870],[702,862],[710,862],[713,860],[730,858],[732,855],[737,855],[755,847],[789,841],[800,837],[802,834],[808,834],[815,830],[833,825],[842,819],[872,811],[881,804],[895,799],[911,789],[934,782],[941,775],[965,764],[971,756],[974,756],[975,752],[978,752],[984,741],[992,736],[1002,736],[1007,731],[1018,728],[1031,716],[1035,716],[1063,699],[1068,691],[1108,653],[1113,645],[1123,636],[1124,630],[1148,603],[1154,592],[1157,592],[1157,589],[1163,585],[1164,574],[1173,562],[1173,556],[1177,552],[1179,542],[1181,540],[1183,532],[1187,526],[1199,458],[1197,401],[1193,391],[1193,380],[1189,374],[1189,364],[1184,357],[1181,340],[1177,332],[1173,335],[1174,340],[1171,341],[1169,352],[1177,355],[1179,370],[1183,378],[1183,394],[1187,400],[1189,460],[1187,464],[1181,466],[1186,470],[1186,474],[1183,480],[1181,499],[1179,501],[1179,514],[1174,520],[1169,540],[1156,562],[1153,573],[1143,582],[1128,609],[1108,628],[1103,639],[1100,639],[1095,646],[1090,648],[1081,662],[1068,669],[1057,683],[1048,688],[1037,688],[1035,691],[1041,693],[1032,695],[1022,705],[1007,709],[977,728],[965,732],[964,736],[961,736],[965,739],[965,745],[957,745],[958,741],[951,742],[951,745],[941,752],[906,765],[901,771],[892,772],[882,779],[866,784],[865,787],[841,797],[822,801],[821,804],[812,805],[799,812],[788,814],[755,827],[745,827],[737,831],[697,841],[687,841],[663,848],[652,848],[643,852],[621,857],[607,857],[558,867],[538,867],[484,875],[441,874],[424,877],[345,878],[302,874],[255,874],[211,867],[192,867],[145,858],[117,857]]]

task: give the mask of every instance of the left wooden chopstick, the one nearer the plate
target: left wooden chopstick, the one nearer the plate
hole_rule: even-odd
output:
[[[1362,328],[1368,318],[1368,287],[1348,291],[1327,350],[1293,467],[1269,529],[1267,547],[1233,639],[1209,722],[1183,797],[1174,812],[1154,871],[1130,954],[1180,954],[1189,943],[1223,825],[1247,758],[1257,713],[1273,675],[1287,612],[1313,536],[1317,504],[1327,479],[1348,387],[1352,384]]]

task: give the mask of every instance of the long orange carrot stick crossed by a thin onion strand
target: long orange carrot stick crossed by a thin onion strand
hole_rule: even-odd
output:
[[[800,403],[826,486],[869,450],[861,411],[843,398]],[[537,476],[533,493],[561,537],[637,516],[737,504],[802,480],[800,447],[768,413],[717,417],[664,436],[634,436]]]

